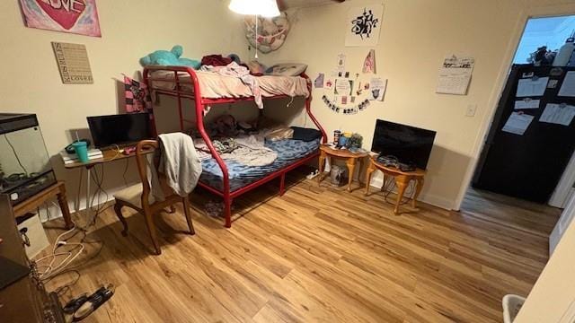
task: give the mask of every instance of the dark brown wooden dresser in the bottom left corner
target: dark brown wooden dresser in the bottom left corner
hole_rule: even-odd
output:
[[[48,293],[26,257],[8,196],[0,195],[0,257],[31,268],[31,274],[0,290],[0,322],[64,323],[55,293]],[[2,271],[3,268],[0,268]]]

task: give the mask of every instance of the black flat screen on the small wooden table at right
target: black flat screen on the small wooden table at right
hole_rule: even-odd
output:
[[[435,135],[435,131],[377,119],[371,151],[425,170]]]

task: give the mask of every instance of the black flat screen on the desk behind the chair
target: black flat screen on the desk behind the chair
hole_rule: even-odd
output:
[[[152,137],[148,113],[97,116],[87,119],[96,148],[135,144]]]

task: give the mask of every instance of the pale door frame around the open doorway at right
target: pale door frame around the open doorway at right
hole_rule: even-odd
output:
[[[456,201],[454,203],[454,210],[459,211],[461,205],[464,202],[464,197],[467,193],[467,189],[471,185],[473,174],[478,166],[479,158],[482,153],[483,146],[485,145],[486,135],[489,134],[489,130],[493,123],[493,118],[497,112],[501,93],[503,92],[505,84],[507,83],[509,69],[511,68],[511,65],[513,65],[513,58],[515,58],[515,53],[517,52],[519,41],[521,40],[523,32],[525,31],[527,20],[529,18],[553,17],[571,14],[575,14],[575,4],[532,6],[519,11],[515,30],[513,31],[509,41],[509,46],[505,50],[505,55],[503,55],[503,60],[500,65],[500,73],[495,82],[495,87],[491,92],[491,97],[488,103],[488,107],[491,108],[491,111],[490,113],[485,114],[485,117],[482,120],[482,126],[480,127],[479,134],[475,138],[475,144],[473,144],[473,149],[471,152],[471,162],[465,171],[462,186],[459,188],[459,194],[457,195]]]

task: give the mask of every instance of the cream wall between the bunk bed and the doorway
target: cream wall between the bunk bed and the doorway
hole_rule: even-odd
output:
[[[343,4],[304,8],[291,13],[292,31],[283,48],[261,61],[302,62],[308,74],[329,74],[339,53],[347,55],[351,74],[361,71],[369,48],[344,47],[344,24],[349,7],[377,1],[348,0]],[[381,3],[381,1],[379,2]],[[511,63],[526,10],[544,1],[389,0],[379,45],[377,74],[389,79],[385,101],[372,103],[358,115],[335,114],[314,90],[314,114],[333,130],[358,132],[371,146],[377,118],[438,131],[429,161],[422,199],[446,208],[458,205],[470,179],[482,136],[491,120],[504,75]],[[569,1],[548,0],[547,4]],[[475,57],[475,69],[465,96],[435,93],[438,69],[446,55]],[[465,109],[477,104],[475,117]]]

